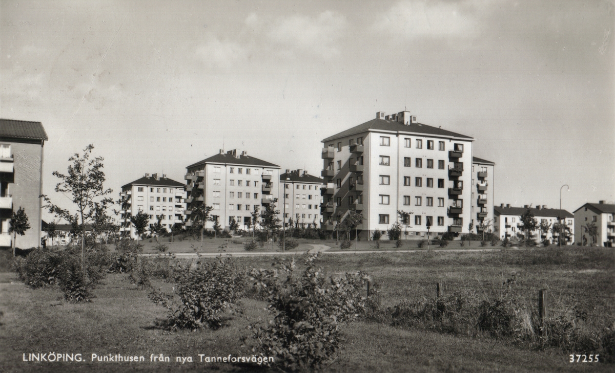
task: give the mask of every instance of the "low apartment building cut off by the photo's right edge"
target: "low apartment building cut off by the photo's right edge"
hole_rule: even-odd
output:
[[[596,226],[595,237],[586,231],[587,225]],[[586,203],[574,210],[574,235],[581,245],[615,246],[615,204],[605,201]]]

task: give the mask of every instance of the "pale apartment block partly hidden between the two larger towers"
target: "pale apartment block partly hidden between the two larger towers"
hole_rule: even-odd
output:
[[[288,228],[288,220],[292,218],[295,225],[320,228],[322,223],[320,189],[324,181],[320,177],[308,174],[303,169],[294,171],[287,169],[284,174],[280,175],[282,193],[277,199],[280,202],[280,220],[284,221],[285,227]]]

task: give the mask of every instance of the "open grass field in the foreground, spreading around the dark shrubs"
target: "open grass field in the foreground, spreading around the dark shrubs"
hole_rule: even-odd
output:
[[[317,240],[317,243],[319,241]],[[272,258],[234,258],[242,267],[269,267]],[[530,304],[538,290],[549,290],[551,312],[582,309],[596,328],[615,321],[614,255],[608,248],[510,250],[463,253],[353,253],[322,255],[328,275],[357,270],[368,272],[383,306],[400,299],[435,295],[435,284],[451,293],[473,288],[490,296],[502,288],[512,272],[518,291]],[[212,331],[171,333],[156,326],[165,309],[147,298],[126,275],[109,274],[94,290],[90,303],[63,301],[56,288],[31,290],[15,274],[0,274],[0,367],[2,371],[244,371],[230,363],[200,363],[205,356],[250,356],[241,336],[250,336],[249,321],[267,320],[264,302],[242,299],[245,316],[231,315],[228,326]],[[156,282],[170,288],[172,284]],[[249,321],[248,321],[249,320]],[[510,340],[488,336],[453,336],[425,329],[403,329],[357,321],[344,327],[346,342],[331,372],[608,372],[613,365],[569,363],[570,352],[558,348],[533,350]],[[81,363],[23,361],[28,353],[81,353]],[[91,362],[98,355],[142,355],[143,363]],[[170,357],[169,363],[150,362],[151,354]],[[193,362],[177,363],[176,356]]]

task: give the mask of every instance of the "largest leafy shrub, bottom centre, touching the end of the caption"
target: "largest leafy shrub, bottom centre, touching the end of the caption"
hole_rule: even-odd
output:
[[[306,269],[299,277],[294,275],[294,260],[277,260],[275,270],[250,272],[256,284],[270,284],[266,287],[268,310],[274,316],[269,325],[250,325],[259,341],[255,350],[274,357],[284,371],[325,367],[339,348],[339,327],[363,310],[365,299],[360,293],[367,275],[357,272],[325,279],[314,266],[316,258],[306,258]]]

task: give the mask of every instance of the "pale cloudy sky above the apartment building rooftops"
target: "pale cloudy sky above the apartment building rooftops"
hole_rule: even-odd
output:
[[[320,140],[408,110],[472,136],[494,202],[615,200],[613,1],[0,0],[0,117],[41,121],[43,193],[220,148],[320,175]]]

